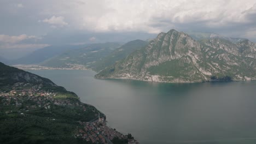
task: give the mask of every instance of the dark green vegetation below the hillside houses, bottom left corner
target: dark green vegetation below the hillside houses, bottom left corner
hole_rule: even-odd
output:
[[[10,109],[11,114],[1,113],[0,143],[84,143],[74,137],[74,131],[80,127],[77,121],[90,121],[95,117],[95,113],[85,113],[80,107],[57,105],[21,115],[19,110],[24,106]],[[8,109],[3,105],[1,108]]]

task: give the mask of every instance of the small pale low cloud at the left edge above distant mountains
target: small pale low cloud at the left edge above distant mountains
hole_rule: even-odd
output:
[[[37,37],[34,35],[26,35],[26,34],[21,34],[18,36],[9,36],[9,35],[0,34],[0,42],[3,42],[3,43],[18,43],[25,39],[37,39]]]

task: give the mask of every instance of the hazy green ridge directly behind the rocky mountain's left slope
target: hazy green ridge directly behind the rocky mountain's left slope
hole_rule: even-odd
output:
[[[118,49],[115,49],[113,52],[111,52],[108,56],[102,58],[100,61],[97,61],[96,63],[92,64],[91,69],[95,71],[103,70],[104,68],[113,65],[115,62],[127,57],[133,51],[138,50],[143,46],[146,46],[147,44],[147,41],[139,39],[129,41],[128,43],[122,45]]]

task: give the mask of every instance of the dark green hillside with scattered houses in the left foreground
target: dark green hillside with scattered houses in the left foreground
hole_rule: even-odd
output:
[[[78,121],[103,116],[49,79],[0,63],[0,143],[85,143]]]

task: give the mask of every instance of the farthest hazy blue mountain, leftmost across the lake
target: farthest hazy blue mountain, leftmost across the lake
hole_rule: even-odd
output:
[[[10,64],[38,64],[40,62],[45,61],[46,59],[59,55],[64,51],[78,49],[84,46],[86,45],[48,46],[48,47],[44,47],[42,49],[36,50],[25,57],[21,57],[19,59],[10,61]]]

